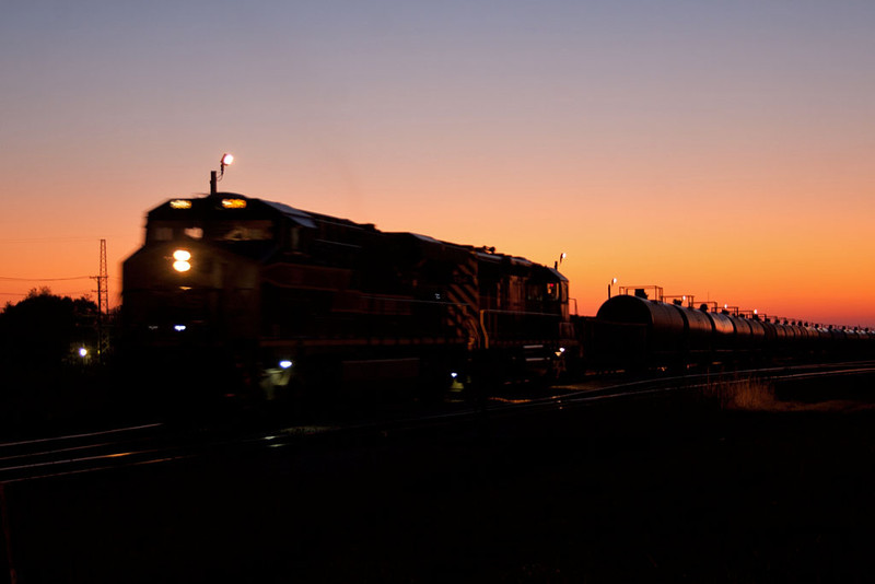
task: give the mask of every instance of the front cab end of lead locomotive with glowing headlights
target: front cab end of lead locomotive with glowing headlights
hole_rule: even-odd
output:
[[[122,267],[126,336],[149,344],[253,339],[258,265],[279,248],[277,221],[243,196],[173,199],[147,217]]]

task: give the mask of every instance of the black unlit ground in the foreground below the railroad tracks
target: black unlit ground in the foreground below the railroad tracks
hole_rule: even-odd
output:
[[[11,557],[23,583],[871,581],[871,384],[837,384],[14,483]]]

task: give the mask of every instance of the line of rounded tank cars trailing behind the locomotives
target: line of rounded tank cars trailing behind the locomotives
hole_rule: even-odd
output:
[[[643,290],[609,299],[585,329],[594,369],[686,369],[690,365],[760,365],[786,360],[875,357],[875,332],[773,319],[752,313],[698,308],[650,300]]]

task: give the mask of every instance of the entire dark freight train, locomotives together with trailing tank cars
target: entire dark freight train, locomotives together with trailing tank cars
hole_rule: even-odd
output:
[[[571,300],[558,262],[384,232],[218,191],[213,179],[209,195],[148,212],[144,242],[122,264],[121,347],[150,386],[176,379],[192,395],[267,401],[337,387],[441,396],[875,349],[870,329],[693,307],[644,289],[591,317],[571,314]]]

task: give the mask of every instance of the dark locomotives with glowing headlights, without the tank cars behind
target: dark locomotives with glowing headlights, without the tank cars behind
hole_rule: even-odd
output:
[[[132,366],[192,399],[542,378],[578,349],[555,268],[214,188],[149,211],[122,287]]]

